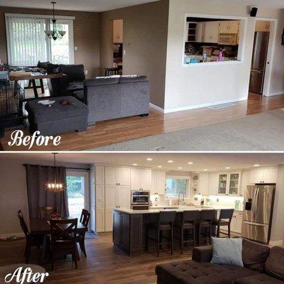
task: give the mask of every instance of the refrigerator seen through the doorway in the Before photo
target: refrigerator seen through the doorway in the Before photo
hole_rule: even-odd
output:
[[[270,33],[266,31],[259,31],[254,34],[249,92],[256,94],[263,94],[263,83],[266,73],[269,35]]]

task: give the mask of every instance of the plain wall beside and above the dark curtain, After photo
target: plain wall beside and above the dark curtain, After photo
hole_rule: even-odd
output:
[[[12,154],[10,154],[12,155]],[[28,198],[26,194],[26,170],[23,164],[33,163],[31,159],[3,158],[0,156],[0,236],[22,235],[23,231],[18,222],[17,211],[23,211],[23,217],[28,223]],[[50,165],[50,164],[49,164]],[[63,165],[58,163],[58,165]],[[67,167],[87,168],[88,165],[64,164]]]

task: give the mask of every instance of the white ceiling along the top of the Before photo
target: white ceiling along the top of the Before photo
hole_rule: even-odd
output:
[[[50,0],[51,1],[51,0]],[[51,4],[48,0],[0,0],[0,6],[9,7],[21,7],[32,9],[50,9]],[[56,0],[55,0],[56,1]],[[118,9],[126,6],[133,6],[137,4],[143,4],[148,2],[154,2],[158,0],[57,0],[58,4],[56,9],[58,10],[70,10],[70,11],[89,11],[89,12],[101,12],[109,11],[112,9]],[[215,3],[236,3],[244,6],[254,5],[260,7],[271,8],[284,8],[283,0],[196,0],[200,3],[214,5]]]

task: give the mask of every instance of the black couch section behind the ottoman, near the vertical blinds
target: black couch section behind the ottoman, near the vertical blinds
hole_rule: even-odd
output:
[[[72,96],[84,89],[84,65],[50,65],[50,72],[62,72],[63,77],[50,79],[48,87],[52,97]]]

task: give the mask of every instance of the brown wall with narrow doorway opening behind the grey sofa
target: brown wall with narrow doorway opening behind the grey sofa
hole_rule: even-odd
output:
[[[147,75],[151,103],[164,106],[168,0],[101,13],[101,67],[112,67],[111,20],[124,20],[124,75]]]

